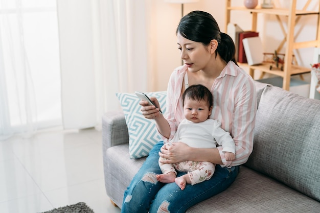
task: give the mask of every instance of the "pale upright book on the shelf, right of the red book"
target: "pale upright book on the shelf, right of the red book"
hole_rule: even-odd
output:
[[[261,64],[263,61],[262,42],[259,36],[242,39],[248,65]]]

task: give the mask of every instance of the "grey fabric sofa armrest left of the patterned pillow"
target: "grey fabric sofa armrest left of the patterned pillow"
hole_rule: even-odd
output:
[[[102,116],[103,153],[113,146],[128,144],[129,134],[123,112],[111,111]]]

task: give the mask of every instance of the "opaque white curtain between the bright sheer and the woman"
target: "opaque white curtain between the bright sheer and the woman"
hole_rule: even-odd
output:
[[[116,92],[148,89],[147,0],[58,0],[64,128],[101,125]]]

